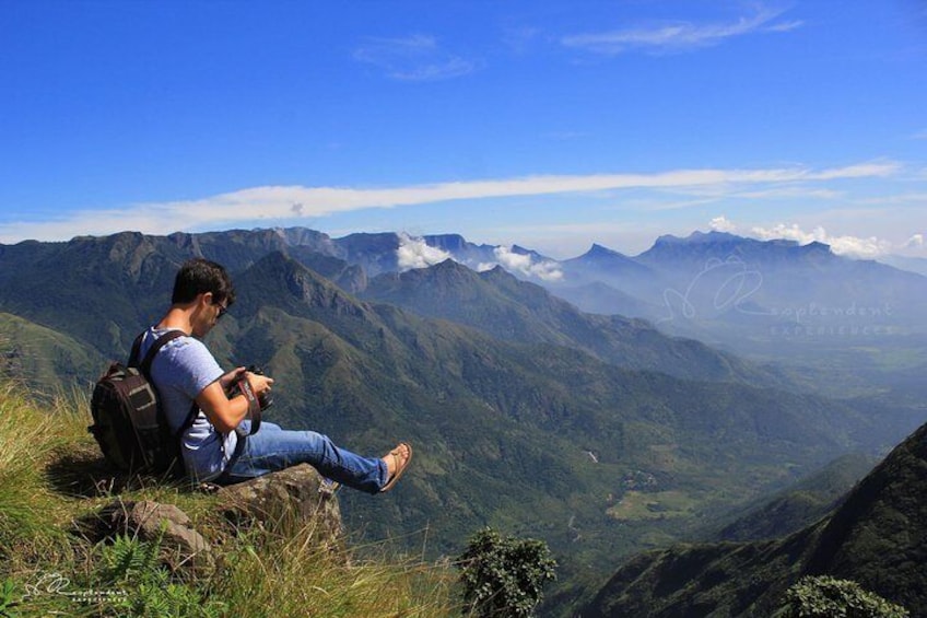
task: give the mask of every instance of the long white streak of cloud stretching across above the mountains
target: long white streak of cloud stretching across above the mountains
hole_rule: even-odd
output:
[[[860,163],[811,170],[774,167],[755,170],[674,170],[654,174],[592,174],[586,176],[527,176],[388,188],[267,186],[202,199],[129,205],[116,210],[84,210],[42,222],[0,223],[0,242],[25,238],[67,240],[78,234],[109,234],[139,230],[165,234],[180,230],[216,229],[270,220],[305,224],[312,218],[369,208],[395,208],[451,200],[482,200],[516,196],[590,194],[603,190],[707,190],[736,194],[767,189],[796,182],[837,182],[896,174],[893,162]]]

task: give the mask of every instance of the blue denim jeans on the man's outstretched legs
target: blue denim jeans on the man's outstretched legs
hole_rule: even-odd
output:
[[[238,425],[245,434],[250,421]],[[326,435],[314,431],[291,431],[262,422],[254,435],[238,435],[238,445],[228,466],[216,482],[240,482],[297,464],[309,464],[324,477],[367,493],[377,493],[386,485],[386,463],[378,457],[362,457],[340,448]]]

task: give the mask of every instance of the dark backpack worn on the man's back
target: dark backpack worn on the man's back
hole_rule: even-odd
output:
[[[93,388],[90,407],[94,424],[87,431],[106,460],[119,470],[175,476],[184,473],[180,438],[193,424],[199,408],[193,403],[184,424],[172,432],[150,373],[159,350],[183,335],[171,330],[159,337],[141,364],[138,357],[144,334],[139,335],[128,364],[110,363]]]

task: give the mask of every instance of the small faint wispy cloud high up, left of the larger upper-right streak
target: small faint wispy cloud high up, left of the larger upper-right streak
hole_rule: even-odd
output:
[[[410,82],[459,78],[478,63],[443,49],[433,36],[371,38],[354,50],[354,59],[382,69],[387,77]]]

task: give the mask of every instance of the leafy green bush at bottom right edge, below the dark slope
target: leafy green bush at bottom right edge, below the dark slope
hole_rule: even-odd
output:
[[[907,610],[849,580],[802,578],[786,592],[783,618],[906,618]]]

